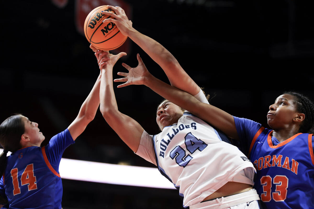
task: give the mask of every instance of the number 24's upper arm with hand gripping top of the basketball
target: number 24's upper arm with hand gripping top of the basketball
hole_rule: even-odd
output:
[[[108,5],[108,8],[115,11],[103,12],[103,14],[111,15],[115,19],[106,19],[105,22],[113,22],[123,35],[128,36],[138,46],[140,46],[160,67],[165,71],[172,86],[186,91],[192,95],[196,95],[200,88],[192,80],[192,78],[183,70],[176,58],[154,39],[141,34],[132,27],[132,22],[128,20],[124,10],[121,7],[113,7]]]

